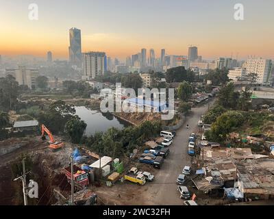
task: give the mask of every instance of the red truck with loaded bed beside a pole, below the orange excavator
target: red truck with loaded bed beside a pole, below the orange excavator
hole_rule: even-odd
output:
[[[71,183],[71,166],[64,168],[64,173],[68,179],[68,183]],[[87,186],[89,184],[88,173],[75,165],[73,166],[73,179],[75,183],[83,186]]]

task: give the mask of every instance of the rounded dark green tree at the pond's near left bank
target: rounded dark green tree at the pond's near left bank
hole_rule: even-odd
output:
[[[71,142],[79,144],[86,129],[86,123],[79,117],[71,118],[64,127],[64,132],[70,136]]]

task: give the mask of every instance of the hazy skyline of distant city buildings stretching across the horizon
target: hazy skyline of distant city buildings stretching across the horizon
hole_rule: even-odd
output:
[[[165,73],[169,68],[184,66],[190,68],[199,75],[205,75],[208,70],[223,69],[229,70],[228,77],[233,81],[245,81],[249,73],[258,75],[257,83],[262,85],[274,84],[274,65],[271,60],[248,59],[238,62],[232,57],[219,57],[217,60],[208,62],[202,60],[198,54],[198,48],[190,45],[188,55],[168,55],[165,49],[161,49],[160,57],[155,57],[154,49],[141,49],[140,53],[127,56],[125,63],[117,58],[112,60],[107,57],[103,51],[88,51],[82,53],[81,30],[75,27],[69,30],[69,62],[66,60],[54,60],[51,51],[47,52],[47,64],[55,66],[72,66],[82,75],[82,79],[87,81],[94,80],[98,75],[105,72],[112,73],[142,73],[146,87],[151,86],[151,76],[146,74],[149,70]],[[1,68],[2,59],[0,55],[0,75],[13,75],[20,85],[26,85],[29,88],[36,88],[36,78],[38,77],[37,68],[27,68],[19,66],[18,68]]]

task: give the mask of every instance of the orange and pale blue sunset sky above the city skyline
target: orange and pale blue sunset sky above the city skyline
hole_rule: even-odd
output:
[[[38,21],[29,21],[29,3],[38,4]],[[234,20],[235,3],[245,21]],[[274,59],[273,11],[273,0],[0,0],[0,54],[67,59],[69,29],[77,27],[83,52],[121,59],[141,48],[187,55],[189,44],[206,59],[237,52]]]

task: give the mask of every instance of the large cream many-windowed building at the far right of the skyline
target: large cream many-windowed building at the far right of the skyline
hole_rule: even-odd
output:
[[[244,68],[247,68],[247,74],[256,73],[258,75],[257,83],[269,83],[271,79],[271,60],[247,60],[243,65]]]

